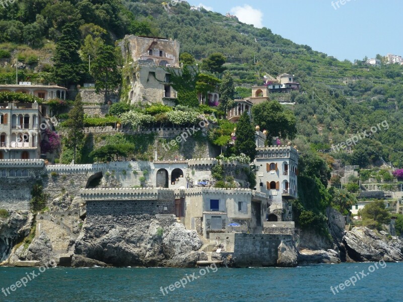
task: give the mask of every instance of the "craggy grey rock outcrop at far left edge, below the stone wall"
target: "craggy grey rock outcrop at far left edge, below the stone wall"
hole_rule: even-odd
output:
[[[0,218],[0,262],[10,256],[18,241],[28,236],[33,217],[29,211],[10,210],[8,217]]]

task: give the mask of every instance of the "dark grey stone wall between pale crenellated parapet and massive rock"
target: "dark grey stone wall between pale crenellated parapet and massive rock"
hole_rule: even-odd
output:
[[[87,201],[88,216],[105,215],[156,215],[173,214],[174,201],[157,200],[119,200],[119,201]]]

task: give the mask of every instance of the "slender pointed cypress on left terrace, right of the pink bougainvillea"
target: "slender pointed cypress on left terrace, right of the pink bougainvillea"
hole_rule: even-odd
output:
[[[84,109],[81,95],[78,94],[74,107],[69,112],[69,119],[65,121],[68,144],[73,148],[73,162],[76,163],[77,149],[84,141]]]

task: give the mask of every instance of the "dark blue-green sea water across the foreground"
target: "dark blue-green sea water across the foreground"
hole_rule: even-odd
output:
[[[26,287],[13,287],[1,301],[403,301],[403,263],[387,263],[378,269],[374,263],[311,265],[297,268],[210,269],[172,268],[49,268],[28,281]],[[0,267],[0,290],[16,284],[34,268]],[[215,270],[215,272],[213,271]],[[360,276],[355,286],[330,286]],[[35,268],[35,275],[38,274]],[[205,271],[201,271],[203,274]],[[192,280],[190,275],[194,274]],[[186,278],[186,275],[189,278]],[[30,275],[31,276],[31,275]],[[31,277],[32,278],[32,277]],[[182,279],[184,278],[184,279]],[[357,277],[356,277],[357,278]],[[182,279],[184,287],[174,283]],[[354,278],[352,279],[354,281]],[[169,290],[169,285],[173,291]],[[160,287],[168,287],[168,294]],[[164,289],[163,289],[164,290]],[[7,293],[7,291],[6,291]]]

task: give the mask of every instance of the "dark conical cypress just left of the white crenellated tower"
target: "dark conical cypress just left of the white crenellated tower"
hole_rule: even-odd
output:
[[[255,130],[246,111],[241,115],[236,126],[235,153],[247,155],[251,162],[256,156]]]

